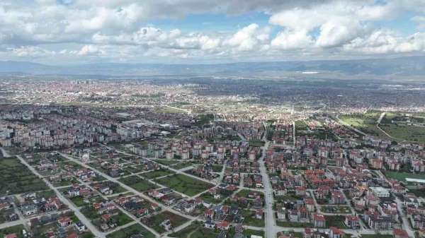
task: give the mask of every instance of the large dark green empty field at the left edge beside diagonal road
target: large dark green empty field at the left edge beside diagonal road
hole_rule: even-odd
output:
[[[46,189],[45,182],[30,172],[18,158],[8,157],[0,160],[0,196]]]

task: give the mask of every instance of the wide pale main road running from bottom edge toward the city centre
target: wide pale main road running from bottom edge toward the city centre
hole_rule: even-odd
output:
[[[270,184],[270,179],[268,177],[267,169],[266,169],[266,163],[264,162],[264,158],[266,157],[267,149],[269,141],[267,141],[266,137],[266,131],[267,127],[266,124],[264,124],[264,134],[263,134],[263,141],[264,145],[261,148],[262,153],[261,157],[259,159],[260,163],[260,172],[261,176],[263,177],[263,184],[264,184],[264,198],[265,198],[265,204],[264,209],[266,210],[265,216],[265,235],[266,237],[276,237],[276,220],[274,219],[274,212],[273,212],[273,189]]]

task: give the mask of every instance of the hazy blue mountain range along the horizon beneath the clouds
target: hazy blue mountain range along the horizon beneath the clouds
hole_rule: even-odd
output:
[[[350,76],[425,76],[424,62],[425,56],[407,56],[394,59],[241,62],[232,64],[102,63],[81,64],[78,66],[49,66],[24,61],[0,61],[0,73],[71,76],[249,76],[313,71],[320,73],[341,73]]]

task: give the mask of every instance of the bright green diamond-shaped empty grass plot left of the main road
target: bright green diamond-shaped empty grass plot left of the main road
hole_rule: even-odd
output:
[[[213,184],[193,179],[184,174],[174,174],[162,179],[156,179],[155,182],[168,186],[170,189],[174,189],[188,196],[194,196],[214,186]]]

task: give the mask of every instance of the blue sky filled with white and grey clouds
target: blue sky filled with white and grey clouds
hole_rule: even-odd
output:
[[[425,54],[425,0],[1,0],[0,61],[215,64]]]

